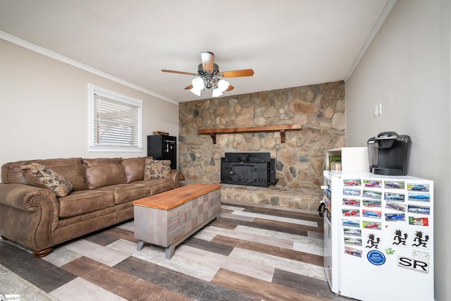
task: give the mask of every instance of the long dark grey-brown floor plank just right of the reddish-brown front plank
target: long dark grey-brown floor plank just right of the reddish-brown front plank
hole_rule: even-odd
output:
[[[129,257],[116,266],[116,269],[124,271],[127,274],[134,275],[160,285],[168,290],[186,295],[195,300],[217,300],[217,301],[246,301],[253,300],[252,297],[244,293],[238,293],[233,288],[223,287],[202,281],[192,276],[181,274],[177,271],[167,269],[151,262],[146,262],[135,257]]]

